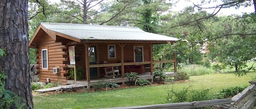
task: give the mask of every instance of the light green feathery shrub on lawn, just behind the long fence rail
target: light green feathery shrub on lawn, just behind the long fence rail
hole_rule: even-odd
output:
[[[174,88],[168,91],[166,97],[167,103],[172,102],[184,102],[184,101],[202,101],[212,99],[209,95],[210,89],[204,89],[203,91],[195,91],[191,87],[183,87],[181,91],[175,91]]]

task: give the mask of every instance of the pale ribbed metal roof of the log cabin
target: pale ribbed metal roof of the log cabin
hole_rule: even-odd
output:
[[[174,37],[148,33],[136,27],[41,23],[46,29],[83,40],[177,41]]]

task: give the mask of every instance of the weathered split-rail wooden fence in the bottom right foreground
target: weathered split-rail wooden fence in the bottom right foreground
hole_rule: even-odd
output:
[[[198,107],[210,107],[218,106],[224,109],[235,108],[253,108],[255,105],[256,95],[256,81],[250,81],[251,85],[243,90],[241,93],[235,95],[231,99],[215,99],[205,101],[193,101],[193,102],[178,102],[172,104],[158,104],[158,105],[145,105],[145,106],[130,106],[130,107],[113,107],[112,109],[132,109],[132,108],[198,108]]]

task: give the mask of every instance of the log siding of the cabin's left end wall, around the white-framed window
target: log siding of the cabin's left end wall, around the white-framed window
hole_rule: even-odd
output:
[[[68,50],[61,42],[55,42],[47,34],[40,36],[40,43],[37,44],[37,64],[39,65],[40,81],[46,82],[47,78],[50,78],[50,82],[58,82],[60,84],[66,84],[67,78],[64,74],[68,73]],[[42,68],[41,50],[47,49],[48,56],[48,69]],[[58,67],[60,72],[53,74],[53,67]]]

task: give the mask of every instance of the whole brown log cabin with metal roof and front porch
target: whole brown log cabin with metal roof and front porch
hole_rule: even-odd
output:
[[[68,75],[74,68],[80,70],[79,78],[88,84],[94,79],[115,76],[125,79],[124,74],[130,72],[147,72],[152,78],[154,63],[159,62],[173,62],[176,72],[176,54],[173,60],[155,61],[153,45],[177,40],[136,27],[40,23],[29,47],[37,49],[40,81],[70,84]]]

